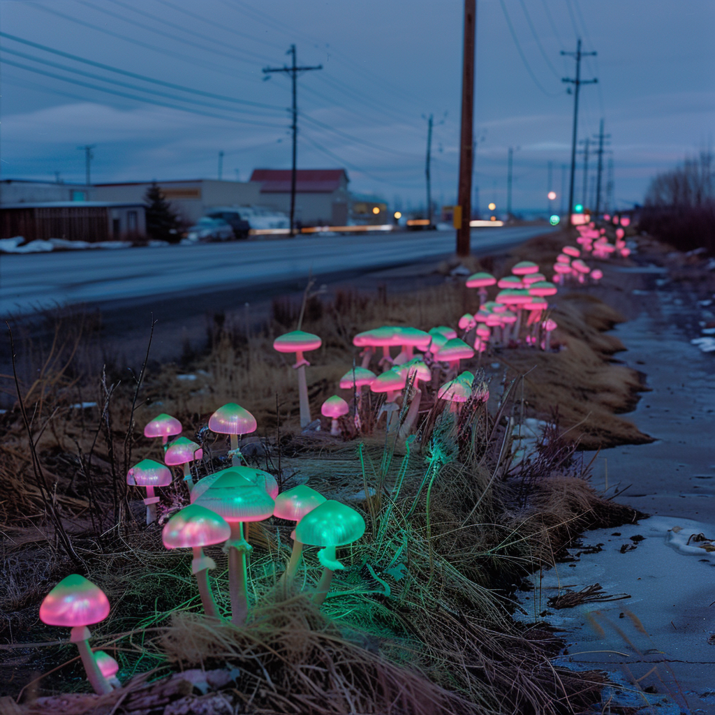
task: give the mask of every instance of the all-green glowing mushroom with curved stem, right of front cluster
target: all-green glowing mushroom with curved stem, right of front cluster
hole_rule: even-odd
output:
[[[315,589],[313,602],[320,605],[330,591],[330,581],[335,571],[345,566],[337,561],[335,549],[358,541],[365,533],[365,519],[355,509],[328,499],[309,511],[295,527],[295,538],[308,546],[321,546],[317,558],[323,571]]]

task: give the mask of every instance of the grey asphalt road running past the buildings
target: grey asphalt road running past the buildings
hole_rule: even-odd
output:
[[[475,255],[485,255],[551,230],[544,226],[472,231]],[[146,304],[250,287],[265,291],[312,275],[360,275],[454,252],[454,231],[392,235],[298,237],[123,250],[0,257],[0,316],[86,303]]]

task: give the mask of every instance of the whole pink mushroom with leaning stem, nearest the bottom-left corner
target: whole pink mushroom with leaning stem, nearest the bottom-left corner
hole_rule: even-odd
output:
[[[87,679],[99,695],[111,693],[112,686],[102,675],[89,648],[91,633],[87,626],[104,621],[107,616],[109,601],[104,591],[79,573],[63,578],[44,597],[40,606],[40,620],[43,623],[71,628],[69,640],[77,644]]]

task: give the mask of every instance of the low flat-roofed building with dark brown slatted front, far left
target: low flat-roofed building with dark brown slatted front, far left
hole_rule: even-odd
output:
[[[142,203],[25,201],[0,206],[0,238],[96,243],[134,240],[144,237],[146,230]]]

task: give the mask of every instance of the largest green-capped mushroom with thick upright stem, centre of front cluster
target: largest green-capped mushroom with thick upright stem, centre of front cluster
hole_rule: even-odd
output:
[[[242,525],[272,516],[275,503],[265,490],[234,471],[222,474],[195,503],[215,511],[230,524],[231,536],[224,550],[228,551],[231,621],[241,626],[248,615],[246,554],[252,551]]]

